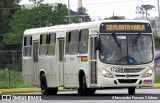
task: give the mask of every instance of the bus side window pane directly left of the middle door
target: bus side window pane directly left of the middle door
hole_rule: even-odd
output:
[[[56,34],[48,35],[48,55],[55,55]]]

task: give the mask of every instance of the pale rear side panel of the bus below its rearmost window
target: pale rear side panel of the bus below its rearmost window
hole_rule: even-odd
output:
[[[26,86],[33,86],[33,60],[32,58],[23,58],[22,60],[23,80]]]

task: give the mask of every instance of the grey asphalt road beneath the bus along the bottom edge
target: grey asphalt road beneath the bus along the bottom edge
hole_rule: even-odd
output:
[[[15,97],[18,96],[37,96],[42,99],[42,101],[29,101],[29,103],[135,103],[135,101],[136,103],[159,103],[160,101],[160,89],[136,89],[135,95],[128,95],[127,89],[97,90],[93,96],[79,96],[76,91],[60,91],[57,95],[48,96],[43,96],[41,93],[2,95],[14,96],[12,99],[17,99]],[[21,103],[22,101],[12,101],[14,102]],[[3,100],[0,103],[9,103],[9,101]]]

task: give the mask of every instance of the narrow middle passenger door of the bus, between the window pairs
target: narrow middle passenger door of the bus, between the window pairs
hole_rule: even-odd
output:
[[[59,86],[64,85],[64,39],[58,39],[58,74],[59,74]]]

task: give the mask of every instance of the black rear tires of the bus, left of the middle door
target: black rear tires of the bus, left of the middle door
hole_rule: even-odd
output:
[[[40,76],[41,80],[41,93],[43,95],[56,95],[58,92],[58,88],[48,88],[45,74]]]

